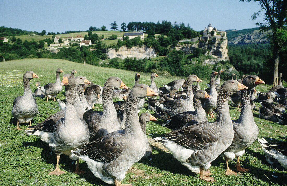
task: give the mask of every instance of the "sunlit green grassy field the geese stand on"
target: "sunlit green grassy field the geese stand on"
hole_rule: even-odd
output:
[[[0,185],[107,185],[100,179],[94,177],[87,168],[85,162],[80,160],[80,168],[86,172],[83,175],[73,174],[75,162],[69,157],[62,155],[60,168],[65,174],[60,176],[48,175],[55,168],[55,155],[51,153],[48,145],[37,137],[28,136],[23,130],[16,130],[16,120],[11,116],[12,103],[15,97],[23,94],[22,77],[27,70],[33,70],[38,79],[31,80],[31,89],[36,89],[36,81],[42,85],[48,82],[55,82],[55,70],[62,68],[65,73],[76,69],[77,76],[86,76],[88,80],[103,85],[110,76],[118,76],[123,82],[131,87],[134,84],[135,72],[102,68],[66,60],[52,59],[24,59],[1,62],[0,65]],[[141,74],[141,83],[150,84],[150,75]],[[160,74],[159,74],[160,75]],[[197,74],[200,78],[200,75]],[[63,74],[61,74],[61,77]],[[168,83],[171,80],[181,77],[160,77],[156,78],[157,86]],[[264,77],[260,77],[264,80]],[[206,81],[201,84],[205,87]],[[269,85],[257,86],[257,90],[265,91]],[[57,98],[64,98],[64,89]],[[34,117],[32,123],[36,124],[52,113],[59,110],[57,102],[45,102],[45,99],[36,98],[39,114]],[[258,105],[257,105],[258,106]],[[96,105],[101,110],[100,105]],[[145,108],[141,112],[146,111]],[[148,111],[154,113],[152,111]],[[258,118],[258,107],[253,111],[254,119],[259,127],[259,137],[273,138],[273,140],[286,140],[287,126],[273,123]],[[237,119],[239,112],[237,108],[230,106],[230,116]],[[162,127],[163,121],[148,122],[147,135],[149,138],[162,136],[170,130]],[[26,128],[28,125],[22,125]],[[177,160],[172,159],[172,154],[156,143],[152,143],[153,155],[150,160],[139,161],[127,171],[124,184],[133,185],[286,185],[287,171],[276,170],[270,167],[265,160],[263,151],[257,141],[246,149],[245,155],[241,158],[242,167],[250,169],[249,173],[242,173],[237,176],[226,176],[225,162],[218,157],[210,167],[214,183],[207,183],[181,165]],[[230,168],[235,170],[235,161],[230,161]]]

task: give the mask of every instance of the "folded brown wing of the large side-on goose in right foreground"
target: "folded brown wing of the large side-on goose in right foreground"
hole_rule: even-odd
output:
[[[175,130],[164,135],[187,149],[207,149],[216,143],[221,136],[221,129],[216,123],[208,121],[199,122],[180,130]]]

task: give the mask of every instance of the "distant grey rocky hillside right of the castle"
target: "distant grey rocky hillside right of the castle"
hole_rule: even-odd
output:
[[[268,33],[271,33],[272,31],[268,31]],[[233,37],[229,39],[228,44],[241,44],[241,45],[246,45],[246,44],[251,44],[251,43],[263,43],[267,40],[268,35],[267,33],[259,33],[259,30],[254,30],[253,32],[244,34],[244,35],[239,35],[237,37]],[[267,40],[267,43],[269,41]]]

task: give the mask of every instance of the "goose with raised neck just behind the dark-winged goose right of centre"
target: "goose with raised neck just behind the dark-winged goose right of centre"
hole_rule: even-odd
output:
[[[157,106],[161,107],[168,117],[174,116],[181,112],[186,111],[194,111],[193,108],[193,93],[192,93],[192,83],[193,82],[202,82],[196,75],[189,75],[186,80],[186,90],[187,90],[187,98],[184,99],[176,99],[176,100],[167,100],[161,104],[157,104]]]

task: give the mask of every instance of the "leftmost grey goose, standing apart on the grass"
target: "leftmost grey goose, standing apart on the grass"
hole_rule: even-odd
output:
[[[32,90],[30,88],[30,80],[33,78],[39,78],[35,72],[28,70],[23,76],[24,94],[18,96],[13,101],[12,116],[17,118],[17,129],[22,130],[19,127],[19,123],[30,123],[34,116],[38,114],[38,106],[35,98],[32,96]]]

